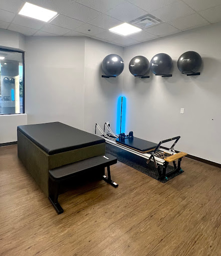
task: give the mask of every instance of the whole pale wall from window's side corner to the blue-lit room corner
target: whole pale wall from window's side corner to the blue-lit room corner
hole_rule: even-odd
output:
[[[116,128],[123,76],[101,78],[101,62],[123,48],[90,38],[27,37],[25,108],[28,123],[61,121],[94,133],[95,122]]]

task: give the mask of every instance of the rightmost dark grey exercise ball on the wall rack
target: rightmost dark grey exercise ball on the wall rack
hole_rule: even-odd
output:
[[[202,64],[201,56],[197,52],[184,52],[177,61],[177,67],[184,74],[197,72]]]

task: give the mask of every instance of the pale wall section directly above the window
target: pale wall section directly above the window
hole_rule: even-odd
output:
[[[0,48],[25,51],[25,36],[18,32],[0,29]]]

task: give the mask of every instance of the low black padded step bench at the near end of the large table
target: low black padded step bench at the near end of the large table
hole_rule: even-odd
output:
[[[55,207],[58,214],[64,212],[63,208],[58,202],[59,188],[62,181],[78,176],[88,171],[101,170],[101,178],[112,185],[118,187],[118,184],[111,180],[110,166],[117,163],[117,158],[106,154],[105,156],[98,156],[75,162],[73,164],[58,167],[49,170],[49,200]],[[107,175],[105,175],[105,167],[107,167]]]

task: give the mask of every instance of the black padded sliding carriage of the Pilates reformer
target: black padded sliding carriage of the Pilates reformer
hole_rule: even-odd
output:
[[[157,147],[156,143],[148,142],[136,137],[125,138],[125,140],[116,139],[118,144],[121,144],[125,147],[137,150],[139,152],[145,153],[154,150]]]

